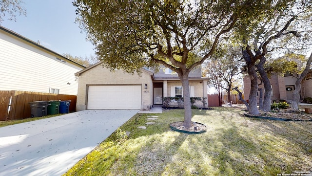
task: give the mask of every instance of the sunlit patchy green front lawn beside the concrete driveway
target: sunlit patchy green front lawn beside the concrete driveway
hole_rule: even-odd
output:
[[[234,108],[193,110],[207,132],[171,131],[183,110],[137,114],[65,176],[276,176],[312,168],[312,122],[242,116]],[[145,125],[150,115],[155,125]],[[131,132],[125,138],[125,132]]]

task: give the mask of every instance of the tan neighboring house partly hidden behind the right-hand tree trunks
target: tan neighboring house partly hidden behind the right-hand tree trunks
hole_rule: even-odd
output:
[[[270,78],[271,86],[272,86],[272,101],[279,100],[292,100],[292,92],[295,89],[295,82],[297,78],[292,76],[292,74],[287,74],[284,76],[279,76],[277,74],[273,74]],[[243,78],[244,81],[244,98],[245,100],[249,99],[251,82],[249,76],[245,76]],[[259,88],[263,89],[263,85],[260,85]],[[302,85],[300,91],[300,99],[304,99],[306,97],[312,97],[312,80],[305,80]],[[257,93],[257,100],[259,102],[259,91]]]

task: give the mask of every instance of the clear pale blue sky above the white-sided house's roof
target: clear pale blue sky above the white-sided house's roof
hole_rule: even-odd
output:
[[[26,8],[26,17],[21,15],[15,21],[0,23],[32,41],[59,54],[72,56],[95,56],[93,45],[86,41],[86,34],[81,32],[78,24],[76,7],[73,0],[22,0]]]

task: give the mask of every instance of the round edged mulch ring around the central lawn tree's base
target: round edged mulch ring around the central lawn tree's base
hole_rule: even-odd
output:
[[[199,134],[199,133],[207,131],[207,126],[198,122],[192,122],[192,126],[190,128],[184,127],[182,121],[173,122],[170,124],[170,128],[171,130],[176,131],[176,132],[195,133],[195,134]]]

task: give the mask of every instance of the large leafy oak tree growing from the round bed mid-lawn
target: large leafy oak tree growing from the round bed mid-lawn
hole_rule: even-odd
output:
[[[111,69],[140,72],[163,65],[183,86],[184,126],[191,127],[190,71],[213,54],[236,22],[265,14],[272,0],[121,1],[75,0],[78,21]],[[194,53],[194,54],[192,54]]]

